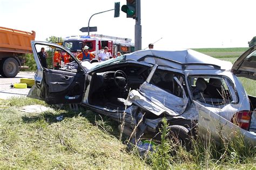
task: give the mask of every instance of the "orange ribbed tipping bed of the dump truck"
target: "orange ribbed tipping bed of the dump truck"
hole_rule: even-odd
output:
[[[32,53],[30,41],[35,40],[36,32],[0,27],[0,52]]]

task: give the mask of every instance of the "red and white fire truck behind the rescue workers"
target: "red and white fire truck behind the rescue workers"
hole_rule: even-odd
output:
[[[91,34],[91,36],[70,36],[64,38],[63,46],[69,49],[75,56],[84,46],[89,47],[89,52],[95,54],[98,60],[98,54],[104,51],[104,47],[109,48],[109,52],[114,57],[119,51],[121,54],[134,52],[134,44],[131,39],[104,36],[102,34]]]

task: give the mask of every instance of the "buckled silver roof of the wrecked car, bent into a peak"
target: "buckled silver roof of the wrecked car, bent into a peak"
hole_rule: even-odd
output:
[[[181,49],[176,51],[158,51],[154,49],[136,51],[126,54],[127,60],[144,61],[158,65],[168,65],[163,60],[176,62],[177,65],[190,65],[186,69],[225,69],[230,70],[232,63],[215,59],[209,55],[196,52],[192,49]],[[171,64],[173,66],[173,63]],[[184,69],[184,67],[181,67]]]

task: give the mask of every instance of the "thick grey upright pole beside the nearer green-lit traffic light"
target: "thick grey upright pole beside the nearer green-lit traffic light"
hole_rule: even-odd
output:
[[[140,25],[140,0],[136,1],[136,22],[135,22],[135,51],[142,49],[142,25]]]

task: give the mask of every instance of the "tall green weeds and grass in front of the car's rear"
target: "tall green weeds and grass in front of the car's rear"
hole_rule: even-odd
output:
[[[232,140],[221,139],[216,144],[208,135],[203,138],[191,138],[192,149],[187,151],[180,143],[167,138],[168,124],[163,119],[161,144],[154,147],[149,164],[153,169],[170,168],[253,168],[256,165],[256,148],[245,143],[242,134]]]

